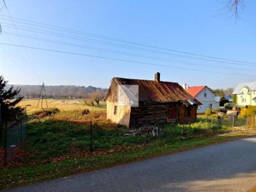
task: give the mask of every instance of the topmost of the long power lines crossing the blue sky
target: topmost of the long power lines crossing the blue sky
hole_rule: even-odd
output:
[[[6,15],[0,15],[0,16],[1,17],[8,17]],[[120,38],[113,38],[113,37],[97,35],[97,34],[93,34],[93,33],[86,33],[86,32],[83,32],[83,31],[77,31],[77,30],[74,30],[74,29],[63,28],[63,27],[54,26],[54,25],[51,25],[51,24],[44,24],[42,22],[34,22],[34,21],[31,21],[31,20],[20,19],[20,18],[17,18],[17,17],[15,17],[15,19],[26,21],[26,22],[23,22],[25,24],[33,23],[33,25],[35,25],[35,26],[40,26],[40,27],[44,26],[44,28],[45,28],[45,26],[48,26],[47,28],[50,28],[50,29],[56,29],[56,30],[59,30],[59,31],[66,31],[68,33],[76,33],[76,34],[80,34],[80,35],[90,35],[90,36],[95,36],[97,38],[104,38],[104,39],[113,40],[113,41],[116,41],[116,42],[123,42],[123,43],[126,43],[126,44],[140,45],[140,46],[143,46],[143,47],[150,47],[150,48],[153,48],[153,49],[159,49],[159,50],[164,50],[164,51],[178,52],[178,53],[188,54],[188,55],[193,55],[193,56],[201,56],[201,57],[204,57],[204,58],[211,58],[211,59],[215,59],[215,60],[224,60],[224,61],[232,61],[232,62],[237,62],[237,63],[256,64],[256,63],[248,62],[248,61],[230,60],[230,59],[227,59],[227,58],[220,58],[220,57],[209,56],[209,55],[204,55],[204,54],[196,54],[196,53],[193,53],[193,52],[177,51],[177,50],[174,50],[174,49],[157,47],[157,46],[154,46],[154,45],[141,44],[141,43],[138,43],[138,42],[131,42],[131,41],[127,41],[127,40],[122,40]],[[18,22],[18,21],[15,21],[15,22]]]

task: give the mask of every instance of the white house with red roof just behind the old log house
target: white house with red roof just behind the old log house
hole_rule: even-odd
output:
[[[208,86],[189,86],[186,87],[186,91],[202,103],[198,106],[197,113],[205,113],[206,109],[220,108],[220,98],[216,97]]]

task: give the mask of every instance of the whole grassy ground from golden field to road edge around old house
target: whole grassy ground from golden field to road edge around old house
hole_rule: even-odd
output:
[[[0,189],[53,179],[72,173],[95,170],[148,157],[232,140],[218,134],[232,131],[232,120],[216,116],[198,117],[190,125],[161,126],[160,138],[124,136],[125,127],[106,120],[106,106],[87,106],[83,100],[48,100],[49,108],[60,111],[38,116],[37,100],[23,100],[28,107],[29,134],[7,167],[0,167]],[[90,114],[83,115],[84,109]],[[42,111],[42,110],[41,110]],[[90,121],[93,122],[93,153],[90,153]],[[245,119],[239,117],[236,129],[243,129]],[[3,154],[3,147],[1,148]],[[2,158],[2,157],[1,157]]]

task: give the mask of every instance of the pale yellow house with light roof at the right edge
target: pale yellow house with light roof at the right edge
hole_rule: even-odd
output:
[[[256,106],[256,82],[239,83],[233,92],[235,106]]]

